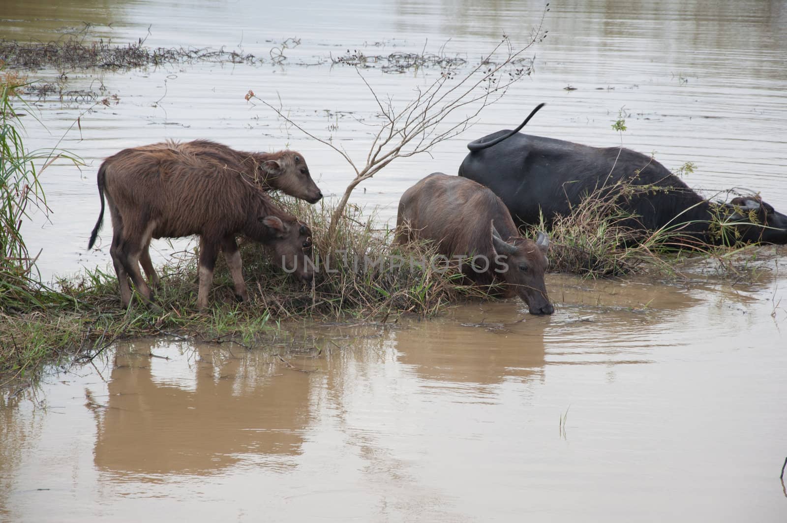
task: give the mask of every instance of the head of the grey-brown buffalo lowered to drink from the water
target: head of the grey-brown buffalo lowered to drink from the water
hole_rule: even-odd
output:
[[[501,238],[492,224],[492,247],[495,254],[495,272],[501,275],[506,284],[515,288],[520,298],[527,303],[531,314],[551,314],[554,312],[549,295],[546,293],[544,273],[549,260],[546,257],[549,238],[538,232],[538,239],[514,236],[508,240]]]

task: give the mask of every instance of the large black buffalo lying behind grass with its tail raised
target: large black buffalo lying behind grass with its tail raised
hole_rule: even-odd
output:
[[[597,188],[616,191],[625,184],[634,191],[621,194],[617,202],[636,216],[627,223],[633,228],[667,228],[689,243],[729,242],[731,236],[719,234],[712,224],[715,217],[717,223],[720,218],[734,224],[742,241],[787,243],[787,216],[759,195],[710,202],[645,154],[519,133],[527,120],[514,131],[467,144],[471,152],[459,168],[459,176],[500,196],[519,224],[538,224],[539,213],[551,224]]]

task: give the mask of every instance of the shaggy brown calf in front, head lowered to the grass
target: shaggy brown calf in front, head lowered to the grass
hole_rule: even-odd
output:
[[[102,163],[98,169],[102,207],[88,248],[93,247],[101,228],[106,198],[113,224],[109,254],[124,306],[131,300],[129,277],[145,299],[152,299],[150,287],[139,272],[142,263],[151,283],[157,286],[158,277],[148,252],[152,238],[200,236],[199,308],[208,305],[220,249],[235,282],[235,295],[247,299],[235,243],[238,234],[272,247],[279,265],[293,267],[303,280],[312,279],[312,231],[275,206],[246,176],[238,176],[237,167],[182,154],[170,147],[121,150]]]

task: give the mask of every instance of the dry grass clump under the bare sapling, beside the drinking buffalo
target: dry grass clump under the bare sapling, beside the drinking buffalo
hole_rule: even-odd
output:
[[[394,243],[393,229],[376,228],[375,213],[348,205],[329,237],[331,206],[323,202],[309,206],[291,198],[283,203],[312,228],[316,272],[312,285],[294,290],[298,284],[272,266],[264,249],[256,243],[243,247],[247,278],[264,275],[254,282],[260,291],[258,299],[276,315],[428,315],[446,303],[486,295],[462,284],[455,268],[436,261],[436,252],[428,243]]]

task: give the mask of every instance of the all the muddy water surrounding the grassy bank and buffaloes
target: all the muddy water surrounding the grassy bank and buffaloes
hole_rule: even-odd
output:
[[[60,140],[87,162],[48,169],[53,213],[24,224],[42,276],[109,266],[109,224],[100,248],[85,251],[94,175],[109,154],[169,138],[288,146],[335,196],[347,165],[246,103],[249,89],[365,158],[375,102],[331,55],[438,52],[450,39],[449,54],[473,61],[501,32],[526,34],[542,7],[303,2],[294,16],[290,4],[253,2],[5,2],[0,37],[18,40],[87,22],[89,38],[267,58],[300,39],[283,65],[65,71],[65,89],[117,100],[35,100],[47,129],[28,120],[28,146]],[[783,2],[551,9],[529,79],[432,158],[390,165],[354,201],[390,221],[416,180],[456,172],[467,142],[547,102],[529,132],[623,140],[671,169],[695,162],[685,181],[706,195],[748,187],[787,209]],[[438,70],[363,74],[398,104]],[[620,136],[610,126],[622,108]],[[154,243],[157,261],[185,245]],[[290,326],[311,340],[305,352],[121,344],[94,365],[50,369],[37,388],[2,392],[0,520],[785,521],[787,276],[784,250],[771,253],[758,252],[754,283],[549,275],[552,317],[512,300],[393,326]]]

